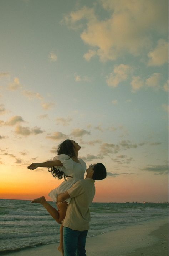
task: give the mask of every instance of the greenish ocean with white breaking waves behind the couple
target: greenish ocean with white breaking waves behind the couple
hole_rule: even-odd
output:
[[[0,199],[0,255],[59,242],[60,225],[41,204],[30,202]],[[168,216],[168,203],[92,203],[90,211],[88,237]]]

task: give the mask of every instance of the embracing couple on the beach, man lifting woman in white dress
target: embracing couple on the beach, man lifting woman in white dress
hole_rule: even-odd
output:
[[[55,178],[65,179],[58,188],[49,193],[53,201],[56,201],[58,211],[46,201],[45,197],[31,202],[42,204],[61,224],[58,250],[64,256],[86,256],[85,244],[90,221],[89,206],[95,194],[94,181],[106,178],[106,168],[102,163],[90,165],[86,170],[86,163],[78,158],[80,148],[75,141],[65,140],[59,145],[57,156],[53,161],[32,163],[28,166],[31,170],[37,167],[48,167]],[[85,171],[87,174],[84,179]]]

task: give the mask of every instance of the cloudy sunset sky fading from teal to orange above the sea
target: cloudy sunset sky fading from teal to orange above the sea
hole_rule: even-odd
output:
[[[168,202],[167,0],[1,0],[0,35],[0,198],[50,200],[72,139],[94,202]]]

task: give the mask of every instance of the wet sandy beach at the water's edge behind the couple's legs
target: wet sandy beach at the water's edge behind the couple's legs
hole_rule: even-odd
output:
[[[11,256],[60,256],[58,243],[7,253]],[[168,218],[123,226],[88,237],[87,256],[168,256]]]

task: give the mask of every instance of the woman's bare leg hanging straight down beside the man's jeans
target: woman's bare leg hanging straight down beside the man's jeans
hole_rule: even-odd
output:
[[[66,209],[67,209],[67,202],[63,203],[57,203],[59,216],[60,216],[60,222],[65,218],[66,215]],[[64,255],[64,249],[63,249],[63,226],[60,227],[60,245],[58,247],[58,251],[62,253],[62,256]]]

